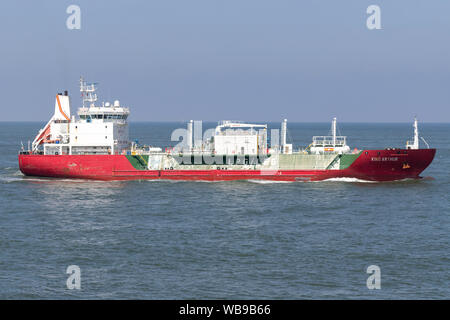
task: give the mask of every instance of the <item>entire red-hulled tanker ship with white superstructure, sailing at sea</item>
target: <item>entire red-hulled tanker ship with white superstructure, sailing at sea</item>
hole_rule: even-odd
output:
[[[97,103],[97,84],[80,78],[82,106],[71,114],[68,92],[56,95],[54,114],[28,144],[18,161],[26,176],[96,180],[272,180],[319,181],[356,178],[368,181],[418,179],[436,149],[419,148],[414,136],[403,148],[351,149],[347,137],[314,136],[306,148],[287,143],[287,120],[272,129],[267,124],[221,121],[202,132],[189,121],[172,133],[175,147],[138,145],[128,137],[129,108],[120,101]],[[424,140],[426,143],[426,141]],[[428,145],[428,144],[427,144]],[[164,149],[164,150],[163,150]]]

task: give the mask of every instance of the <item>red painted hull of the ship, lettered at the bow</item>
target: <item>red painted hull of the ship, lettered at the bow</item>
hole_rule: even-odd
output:
[[[317,181],[358,178],[393,181],[419,178],[431,163],[436,149],[366,150],[342,170],[137,170],[123,155],[20,154],[19,167],[27,176],[96,180],[277,180]],[[407,165],[405,165],[407,164]]]

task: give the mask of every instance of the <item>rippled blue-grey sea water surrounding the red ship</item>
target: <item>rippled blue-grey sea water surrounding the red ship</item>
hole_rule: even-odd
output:
[[[387,183],[24,177],[20,142],[42,126],[0,123],[0,299],[450,298],[449,124],[420,126],[438,149],[424,179]],[[131,123],[130,136],[167,146],[184,126]],[[359,149],[412,136],[404,123],[340,129]],[[328,130],[290,123],[289,138],[307,146]]]

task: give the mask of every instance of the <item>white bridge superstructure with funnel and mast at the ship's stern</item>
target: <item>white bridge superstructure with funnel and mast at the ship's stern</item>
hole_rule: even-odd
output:
[[[104,102],[95,105],[96,84],[80,79],[83,107],[78,119],[71,115],[67,91],[56,95],[53,117],[33,141],[33,150],[43,145],[44,154],[118,154],[130,147],[128,141],[128,108]]]

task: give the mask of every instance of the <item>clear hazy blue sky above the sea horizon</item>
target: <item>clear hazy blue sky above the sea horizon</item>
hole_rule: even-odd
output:
[[[449,38],[448,0],[5,0],[0,121],[76,112],[83,76],[131,121],[449,122]]]

